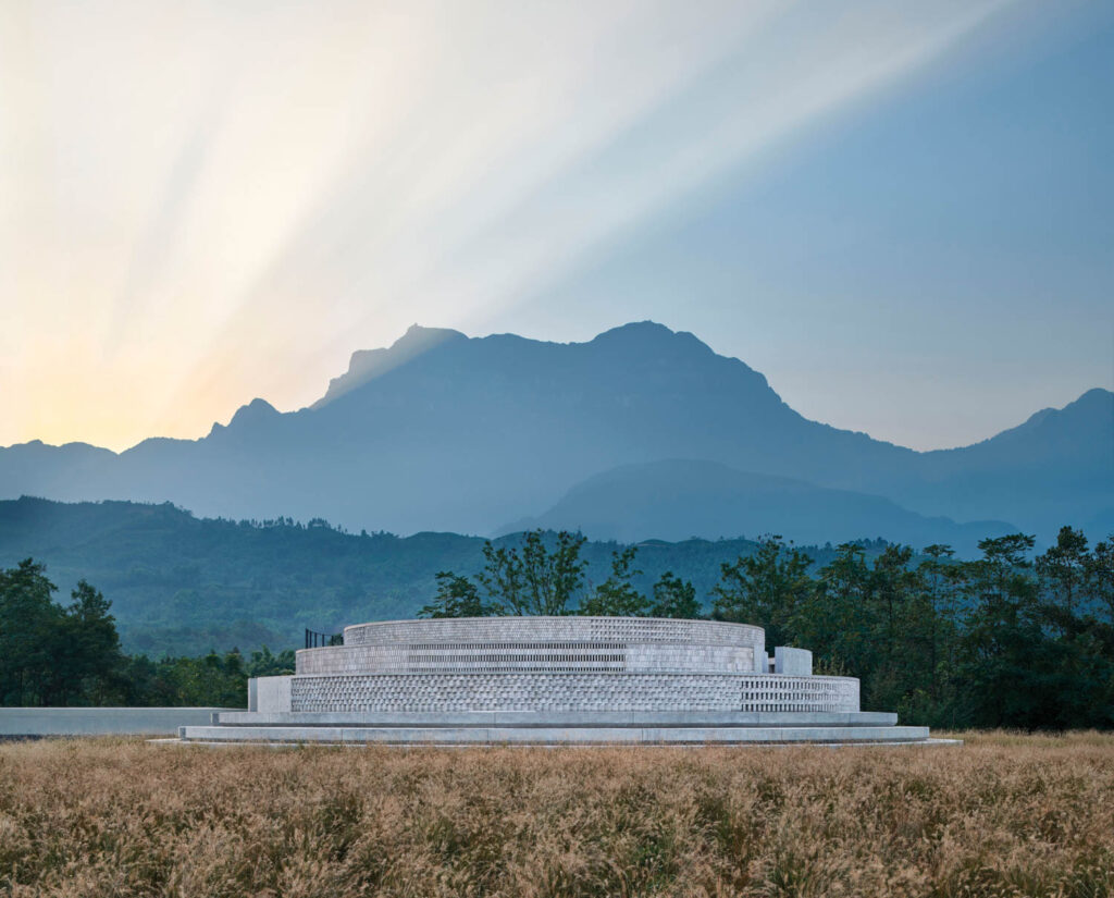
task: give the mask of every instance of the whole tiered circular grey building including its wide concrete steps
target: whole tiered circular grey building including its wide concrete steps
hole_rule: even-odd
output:
[[[388,621],[253,680],[248,710],[186,740],[393,743],[910,742],[859,681],[766,654],[761,627],[647,617]]]

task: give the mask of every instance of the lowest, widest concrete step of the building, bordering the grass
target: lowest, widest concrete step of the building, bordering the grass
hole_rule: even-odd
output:
[[[183,726],[185,742],[384,744],[743,744],[907,743],[927,726]]]

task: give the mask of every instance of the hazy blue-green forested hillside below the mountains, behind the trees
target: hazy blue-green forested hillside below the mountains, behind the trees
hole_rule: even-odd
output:
[[[481,568],[483,543],[349,534],[322,520],[203,519],[169,504],[0,501],[0,567],[33,557],[65,592],[81,578],[95,584],[113,603],[125,651],[150,655],[277,650],[301,645],[306,627],[412,617],[432,599],[439,570]],[[616,547],[585,545],[590,583],[607,578]],[[706,603],[720,564],[753,549],[746,539],[646,543],[635,582],[648,592],[672,570]],[[830,547],[810,554],[820,564],[834,557]]]

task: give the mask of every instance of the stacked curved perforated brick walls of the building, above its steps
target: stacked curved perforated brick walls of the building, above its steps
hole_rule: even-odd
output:
[[[294,712],[856,712],[859,682],[761,674],[765,633],[651,617],[473,617],[345,627],[297,653]]]

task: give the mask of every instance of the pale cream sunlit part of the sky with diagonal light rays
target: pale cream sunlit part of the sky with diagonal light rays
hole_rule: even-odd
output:
[[[1005,6],[4,3],[0,445],[199,437],[482,330]]]

